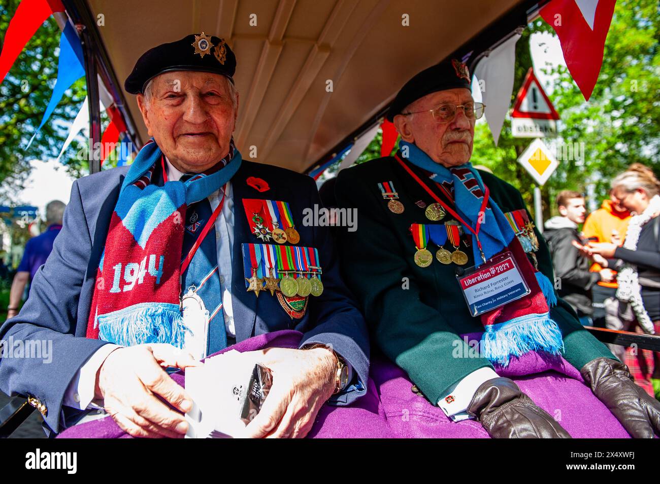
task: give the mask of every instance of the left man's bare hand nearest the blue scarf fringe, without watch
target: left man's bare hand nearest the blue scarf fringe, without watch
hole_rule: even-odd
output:
[[[171,344],[139,344],[114,350],[101,365],[96,398],[125,432],[133,437],[172,437],[185,435],[188,424],[182,414],[193,401],[163,367],[186,368],[203,363]]]

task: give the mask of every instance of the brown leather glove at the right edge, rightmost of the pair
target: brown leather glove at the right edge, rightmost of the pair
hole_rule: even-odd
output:
[[[596,358],[580,373],[591,391],[636,439],[660,433],[660,402],[634,383],[628,367],[611,358]]]

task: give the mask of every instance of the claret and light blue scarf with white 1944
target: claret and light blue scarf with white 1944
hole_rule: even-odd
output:
[[[96,271],[88,338],[123,346],[183,346],[180,269],[185,210],[228,182],[242,158],[232,140],[214,173],[155,186],[151,178],[161,159],[158,145],[146,144],[121,186]]]

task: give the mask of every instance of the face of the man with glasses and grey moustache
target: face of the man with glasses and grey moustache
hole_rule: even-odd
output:
[[[444,103],[463,105],[472,102],[472,93],[465,88],[433,92],[420,97],[403,110],[404,113],[427,112],[397,115],[394,124],[403,140],[414,143],[436,163],[444,167],[463,165],[472,156],[475,120],[467,119],[465,111],[459,108],[453,121],[441,124],[434,119],[430,110]]]

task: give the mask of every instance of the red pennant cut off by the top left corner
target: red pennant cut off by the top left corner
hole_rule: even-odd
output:
[[[64,5],[60,0],[22,0],[18,4],[5,32],[5,42],[0,53],[0,80],[5,80],[16,57],[34,36],[34,32],[53,13],[63,11]]]

